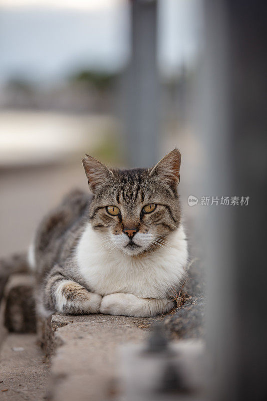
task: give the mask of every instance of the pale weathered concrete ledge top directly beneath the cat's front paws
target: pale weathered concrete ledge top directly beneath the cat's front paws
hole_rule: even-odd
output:
[[[151,324],[162,319],[110,315],[52,316],[57,345],[52,358],[51,399],[117,399],[120,393],[118,348],[128,342],[146,340]]]

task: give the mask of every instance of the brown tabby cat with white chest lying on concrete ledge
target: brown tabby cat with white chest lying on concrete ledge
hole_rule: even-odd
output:
[[[91,194],[69,194],[42,221],[29,250],[39,313],[169,311],[187,264],[180,152],[147,169],[108,168],[88,155],[82,162]]]

